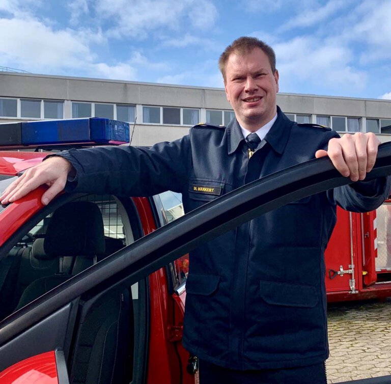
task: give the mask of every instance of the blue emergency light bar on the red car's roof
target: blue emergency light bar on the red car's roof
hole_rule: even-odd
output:
[[[0,146],[129,143],[129,123],[91,117],[0,124]]]

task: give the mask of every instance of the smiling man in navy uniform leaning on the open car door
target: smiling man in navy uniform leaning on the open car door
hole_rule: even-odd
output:
[[[71,150],[28,170],[2,202],[46,183],[47,203],[68,190],[146,196],[171,189],[190,211],[250,181],[328,155],[357,183],[256,218],[191,254],[183,344],[200,358],[200,383],[325,383],[328,356],[324,250],[336,203],[378,207],[389,179],[362,182],[375,162],[373,133],[342,139],[328,128],[290,121],[276,106],[273,50],[236,40],[220,69],[235,119],[199,125],[152,148]],[[67,182],[68,179],[68,182]]]

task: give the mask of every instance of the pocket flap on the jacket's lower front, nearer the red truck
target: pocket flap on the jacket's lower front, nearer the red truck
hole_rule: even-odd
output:
[[[312,285],[261,281],[261,297],[268,304],[312,308],[318,303],[318,292]]]

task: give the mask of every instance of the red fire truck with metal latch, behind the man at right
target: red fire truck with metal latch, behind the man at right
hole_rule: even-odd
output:
[[[325,252],[329,302],[391,296],[390,203],[367,213],[337,208]]]

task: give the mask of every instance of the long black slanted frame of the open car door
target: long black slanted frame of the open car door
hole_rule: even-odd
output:
[[[391,174],[391,143],[379,148],[377,161],[367,180]],[[88,291],[135,283],[201,242],[225,233],[289,202],[350,184],[328,158],[310,160],[247,184],[210,202],[47,292],[0,323],[0,358],[4,346],[32,328],[59,316],[73,300]],[[55,323],[54,323],[55,328]],[[53,345],[55,347],[55,345]],[[54,349],[54,348],[53,348]],[[382,381],[354,382],[380,383]]]

